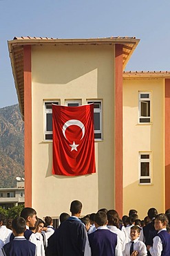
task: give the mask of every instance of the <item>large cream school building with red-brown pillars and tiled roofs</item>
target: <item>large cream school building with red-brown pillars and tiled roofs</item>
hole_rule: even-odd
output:
[[[74,199],[83,202],[83,214],[105,207],[121,216],[136,208],[145,217],[150,207],[170,208],[169,97],[164,96],[169,73],[123,73],[138,42],[135,37],[8,42],[25,121],[25,205],[40,217],[69,212]],[[96,174],[52,175],[52,102],[94,102]]]

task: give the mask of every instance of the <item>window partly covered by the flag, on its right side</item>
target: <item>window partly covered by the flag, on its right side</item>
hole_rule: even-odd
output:
[[[94,103],[94,138],[96,140],[103,139],[102,129],[102,101],[101,100],[88,100],[87,104]]]

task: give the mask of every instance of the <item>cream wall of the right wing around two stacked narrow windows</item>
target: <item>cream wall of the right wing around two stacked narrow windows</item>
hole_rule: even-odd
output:
[[[138,91],[151,91],[151,125],[138,123]],[[164,80],[123,80],[123,214],[164,212]],[[152,152],[152,184],[138,184],[138,152]]]

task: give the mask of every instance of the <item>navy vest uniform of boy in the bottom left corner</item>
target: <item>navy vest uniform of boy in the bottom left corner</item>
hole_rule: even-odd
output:
[[[10,243],[5,244],[2,248],[4,256],[35,256],[36,246],[25,237],[14,237]]]

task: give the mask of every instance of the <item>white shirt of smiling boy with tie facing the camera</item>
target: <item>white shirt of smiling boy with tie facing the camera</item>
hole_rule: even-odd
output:
[[[123,256],[130,256],[130,248],[131,248],[131,241],[129,241],[125,245],[125,250],[123,251]],[[147,255],[147,247],[142,241],[139,241],[139,239],[134,240],[134,250],[138,250],[138,256],[145,256]]]

